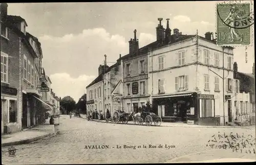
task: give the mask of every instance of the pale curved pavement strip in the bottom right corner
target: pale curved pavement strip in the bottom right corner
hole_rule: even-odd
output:
[[[189,154],[174,158],[167,163],[195,163],[195,162],[254,162],[256,154],[241,152],[233,152],[230,150],[217,149],[195,154]]]

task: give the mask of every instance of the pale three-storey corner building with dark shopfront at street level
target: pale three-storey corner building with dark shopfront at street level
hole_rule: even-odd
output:
[[[249,102],[233,79],[233,48],[217,46],[211,34],[182,35],[174,29],[167,45],[150,51],[149,90],[163,120],[224,125],[236,119],[235,100]]]

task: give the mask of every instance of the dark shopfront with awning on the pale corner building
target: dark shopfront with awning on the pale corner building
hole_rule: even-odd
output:
[[[153,96],[154,113],[163,121],[186,122],[197,117],[197,93]]]

